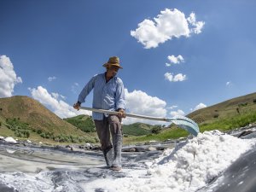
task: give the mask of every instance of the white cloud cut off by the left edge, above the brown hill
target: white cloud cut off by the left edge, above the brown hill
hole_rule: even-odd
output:
[[[22,83],[17,77],[14,66],[6,55],[0,55],[0,97],[12,96],[15,84]]]

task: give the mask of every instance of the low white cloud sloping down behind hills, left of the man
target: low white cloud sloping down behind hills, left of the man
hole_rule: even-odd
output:
[[[60,118],[73,117],[79,114],[91,115],[91,113],[87,111],[75,110],[72,106],[67,104],[67,102],[60,99],[61,95],[58,93],[49,94],[48,90],[42,86],[38,86],[38,88],[28,88],[28,90],[30,90],[34,99],[38,100],[38,102],[41,102],[46,107],[49,107],[49,109]]]

